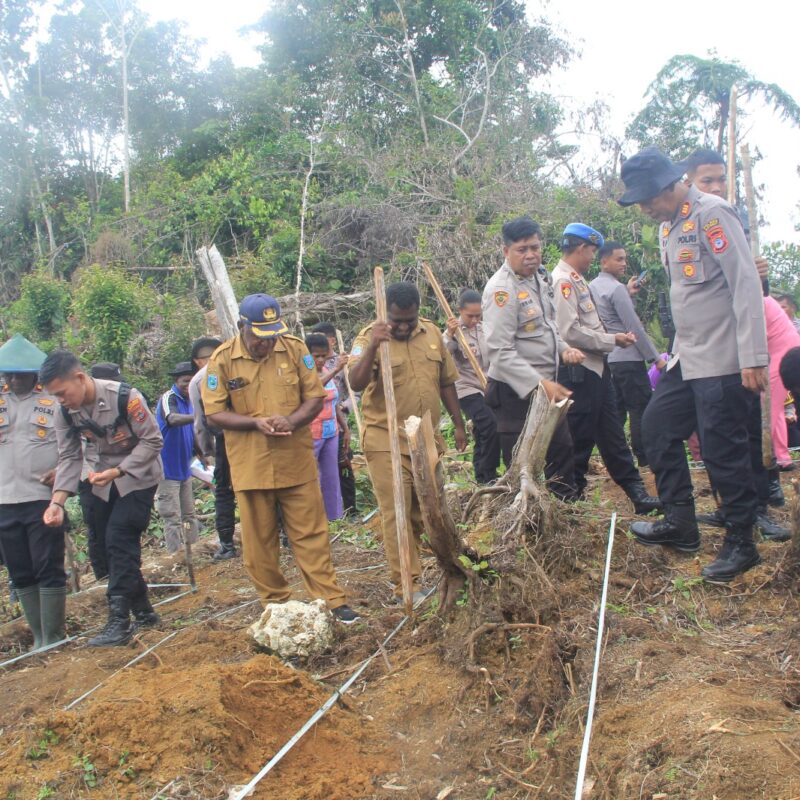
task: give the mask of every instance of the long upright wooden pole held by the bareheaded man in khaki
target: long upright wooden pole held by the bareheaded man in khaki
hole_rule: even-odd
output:
[[[383,270],[375,267],[375,307],[379,322],[387,321],[386,287]],[[386,400],[386,420],[389,426],[389,448],[392,457],[392,487],[394,489],[394,512],[397,523],[397,549],[400,553],[400,582],[403,588],[403,605],[409,616],[414,610],[414,585],[411,579],[411,542],[406,517],[405,492],[403,491],[403,460],[400,453],[400,431],[397,424],[397,403],[392,383],[392,361],[389,342],[381,342],[381,378]]]

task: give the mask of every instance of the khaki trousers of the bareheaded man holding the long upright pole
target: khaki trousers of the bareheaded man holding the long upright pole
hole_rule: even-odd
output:
[[[381,511],[381,529],[383,531],[383,549],[389,562],[389,574],[394,584],[395,594],[402,594],[400,583],[400,551],[397,546],[397,516],[394,506],[394,490],[392,489],[392,456],[375,450],[364,453],[367,459],[372,488]],[[414,589],[419,589],[419,543],[425,532],[422,512],[419,508],[417,493],[414,491],[414,476],[411,471],[411,456],[403,455],[403,497],[406,505],[406,521],[411,532],[414,546],[411,548],[411,578]],[[438,470],[437,470],[438,472]]]

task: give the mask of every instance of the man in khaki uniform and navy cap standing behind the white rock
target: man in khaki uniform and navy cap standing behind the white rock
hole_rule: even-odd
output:
[[[242,300],[239,335],[208,362],[203,405],[209,422],[225,431],[244,566],[262,602],[291,597],[279,564],[280,503],[306,590],[349,624],[358,616],[336,583],[308,428],[325,390],[305,343],[288,335],[280,313],[269,295]]]

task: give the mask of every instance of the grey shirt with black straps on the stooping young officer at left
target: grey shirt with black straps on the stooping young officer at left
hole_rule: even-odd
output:
[[[91,419],[106,432],[102,437],[83,432],[83,436],[91,438],[97,446],[95,471],[103,472],[111,467],[123,470],[125,474],[114,481],[121,497],[136,489],[155,486],[164,476],[161,466],[161,447],[164,442],[147,403],[136,389],[131,389],[127,423],[120,425],[115,433],[113,426],[117,419],[120,385],[115,381],[93,380],[95,399],[92,405],[82,406],[77,411],[70,410],[69,414],[77,425],[82,420]],[[81,437],[75,433],[59,411],[56,415],[58,469],[53,491],[71,494],[78,491],[83,453]],[[92,493],[101,500],[108,500],[111,484],[93,486]]]

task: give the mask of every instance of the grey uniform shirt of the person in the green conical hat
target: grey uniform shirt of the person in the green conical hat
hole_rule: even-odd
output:
[[[41,386],[23,397],[0,387],[0,504],[49,500],[39,478],[58,463],[58,401]]]

